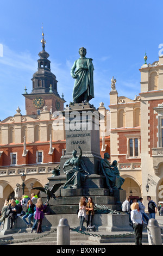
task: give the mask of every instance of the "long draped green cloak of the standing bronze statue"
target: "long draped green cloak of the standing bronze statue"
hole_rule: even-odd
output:
[[[86,92],[88,101],[94,97],[94,87],[93,87],[93,64],[91,58],[85,58],[87,63],[87,68],[80,68],[78,66],[78,60],[76,60],[71,69],[71,75],[76,74],[78,75],[73,88],[73,101],[77,101],[77,99]],[[74,72],[74,70],[77,70]]]

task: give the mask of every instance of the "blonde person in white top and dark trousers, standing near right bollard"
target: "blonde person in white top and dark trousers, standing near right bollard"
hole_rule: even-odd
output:
[[[135,231],[135,245],[142,245],[143,220],[139,210],[139,203],[131,204],[131,221]]]

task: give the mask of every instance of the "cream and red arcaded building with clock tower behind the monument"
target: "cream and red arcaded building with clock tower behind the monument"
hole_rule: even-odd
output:
[[[58,118],[53,113],[63,111],[66,101],[58,94],[44,38],[39,57],[32,92],[27,93],[25,88],[23,94],[26,115],[18,107],[12,117],[0,122],[0,209],[5,199],[20,199],[18,185],[23,173],[24,193],[29,197],[33,186],[44,187],[66,151],[64,118],[61,129],[53,129]],[[119,96],[112,87],[110,104],[101,102],[97,110],[104,116],[99,138],[101,156],[108,152],[111,163],[118,161],[125,179],[122,188],[127,196],[143,197],[147,209],[148,195],[156,203],[163,196],[163,56],[153,64],[145,62],[140,75],[139,96],[131,100]]]

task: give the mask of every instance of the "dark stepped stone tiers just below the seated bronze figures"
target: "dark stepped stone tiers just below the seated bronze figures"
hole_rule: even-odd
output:
[[[77,188],[60,189],[59,196],[51,198],[49,205],[53,214],[76,214],[82,196],[92,197],[93,203],[105,205],[112,211],[120,211],[121,204],[126,200],[126,191],[113,190],[113,196],[109,196],[108,188]],[[43,202],[46,202],[46,194],[41,192]]]

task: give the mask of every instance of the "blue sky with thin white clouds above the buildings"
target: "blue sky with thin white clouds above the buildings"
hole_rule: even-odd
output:
[[[95,99],[109,108],[111,78],[117,80],[118,96],[134,99],[140,93],[140,71],[158,60],[162,36],[162,1],[46,0],[1,1],[0,8],[0,119],[26,114],[24,87],[32,91],[31,78],[41,51],[42,23],[51,71],[58,80],[58,93],[72,100],[74,80],[70,70],[87,49],[93,59]],[[1,53],[1,52],[0,52]]]

